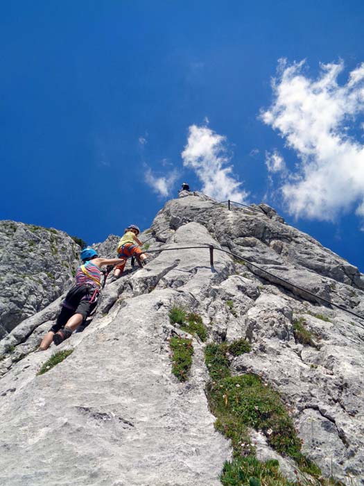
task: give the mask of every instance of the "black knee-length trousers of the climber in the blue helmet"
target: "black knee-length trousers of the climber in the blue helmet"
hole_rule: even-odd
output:
[[[57,333],[74,314],[82,315],[85,320],[96,307],[97,298],[95,297],[97,296],[94,292],[95,287],[92,285],[74,285],[62,303],[56,323],[49,330]]]

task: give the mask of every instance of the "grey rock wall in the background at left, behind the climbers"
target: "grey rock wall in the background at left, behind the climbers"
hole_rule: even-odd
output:
[[[63,231],[0,221],[0,339],[69,287],[79,251]]]

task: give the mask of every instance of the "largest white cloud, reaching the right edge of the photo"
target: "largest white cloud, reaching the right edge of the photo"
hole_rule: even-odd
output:
[[[364,146],[348,133],[364,112],[364,64],[344,85],[337,82],[343,62],[321,65],[317,80],[304,76],[303,66],[280,61],[274,101],[261,119],[300,160],[281,187],[288,210],[329,221],[363,201]]]

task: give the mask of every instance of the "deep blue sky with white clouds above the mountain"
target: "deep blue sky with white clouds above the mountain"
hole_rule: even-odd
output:
[[[0,218],[91,244],[187,181],[364,271],[363,19],[353,0],[2,2]]]

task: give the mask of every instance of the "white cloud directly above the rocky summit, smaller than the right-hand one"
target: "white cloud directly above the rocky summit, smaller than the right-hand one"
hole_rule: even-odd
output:
[[[183,165],[191,167],[200,181],[202,192],[218,200],[245,201],[248,193],[232,175],[226,154],[226,138],[206,126],[189,127],[189,138],[182,152]]]

